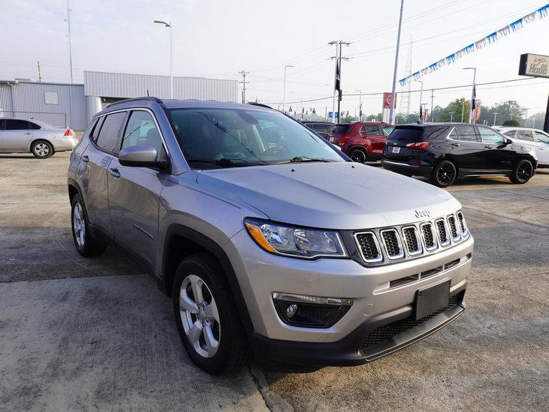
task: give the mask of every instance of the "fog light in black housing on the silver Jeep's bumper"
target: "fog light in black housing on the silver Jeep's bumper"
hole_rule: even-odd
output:
[[[273,293],[279,317],[288,325],[302,328],[329,328],[339,321],[353,304],[352,299]]]

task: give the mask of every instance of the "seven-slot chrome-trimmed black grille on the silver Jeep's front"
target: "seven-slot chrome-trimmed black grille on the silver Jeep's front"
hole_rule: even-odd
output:
[[[467,238],[467,226],[461,211],[446,218],[422,222],[419,225],[387,227],[355,233],[362,260],[383,262],[434,252],[439,247]],[[383,248],[383,249],[382,249]],[[406,250],[405,250],[406,249]]]

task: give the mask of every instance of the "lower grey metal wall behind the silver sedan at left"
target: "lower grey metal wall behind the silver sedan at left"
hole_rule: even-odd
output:
[[[57,104],[46,104],[46,91],[57,93]],[[27,117],[60,127],[67,122],[74,130],[84,130],[84,84],[0,83],[0,115]]]

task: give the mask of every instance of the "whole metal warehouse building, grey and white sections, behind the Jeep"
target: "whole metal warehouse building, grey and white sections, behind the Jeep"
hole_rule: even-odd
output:
[[[84,130],[105,104],[170,97],[170,77],[84,71],[84,84],[0,80],[0,116],[28,117]],[[174,98],[237,102],[238,81],[174,77]]]

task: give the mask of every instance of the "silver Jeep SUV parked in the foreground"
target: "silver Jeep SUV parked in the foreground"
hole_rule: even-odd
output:
[[[190,358],[360,365],[463,313],[460,203],[349,161],[261,105],[138,98],[97,113],[69,165],[76,249],[117,247],[172,297]]]

